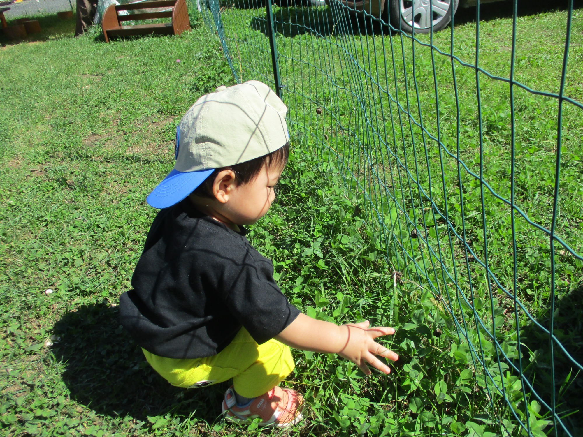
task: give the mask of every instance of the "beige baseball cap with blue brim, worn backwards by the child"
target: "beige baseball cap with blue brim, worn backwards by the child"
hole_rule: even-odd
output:
[[[220,86],[184,114],[176,128],[174,169],[147,196],[154,208],[186,198],[215,170],[265,156],[289,141],[287,107],[257,80]]]

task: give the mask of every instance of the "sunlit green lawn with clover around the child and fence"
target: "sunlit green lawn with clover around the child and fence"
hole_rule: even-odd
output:
[[[301,390],[310,407],[307,420],[288,434],[521,435],[508,404],[496,393],[495,386],[502,383],[518,417],[531,418],[531,430],[539,432],[532,431],[534,435],[552,432],[546,422],[549,412],[496,358],[497,348],[487,332],[496,330],[500,350],[511,362],[524,364],[528,380],[535,381],[535,390],[545,400],[550,396],[542,383],[549,381],[548,340],[524,312],[515,317],[511,299],[502,288],[491,286],[482,266],[468,262],[464,249],[473,247],[473,256],[481,260],[487,245],[493,277],[511,294],[516,288],[517,297],[544,325],[549,323],[551,292],[548,238],[543,246],[545,235],[515,214],[515,275],[510,210],[486,189],[482,196],[469,172],[458,172],[456,160],[443,156],[434,140],[424,140],[419,126],[409,129],[405,123],[409,115],[416,121],[423,118],[427,131],[436,133],[435,65],[442,145],[455,156],[459,119],[462,140],[457,153],[472,171],[479,172],[481,158],[484,180],[508,197],[508,85],[480,78],[484,121],[480,135],[471,71],[456,70],[456,104],[449,61],[434,54],[437,59],[431,62],[430,51],[419,44],[413,54],[410,41],[405,38],[401,45],[398,34],[387,36],[378,30],[370,35],[335,34],[328,8],[310,12],[310,29],[328,29],[320,32],[325,38],[319,37],[298,26],[297,17],[305,20],[307,11],[275,11],[281,22],[276,30],[286,84],[283,95],[294,126],[293,153],[276,204],[252,227],[249,237],[273,259],[276,280],[298,308],[336,323],[370,319],[395,326],[398,333],[386,344],[402,358],[391,375],[363,378],[356,366],[335,355],[296,351],[296,371],[287,384]],[[565,17],[564,10],[548,10],[519,18],[517,80],[533,89],[557,92]],[[578,75],[583,66],[580,17],[578,9],[566,87],[566,95],[578,101],[583,99]],[[227,8],[222,13],[226,47],[237,74],[269,83],[271,58],[263,18],[256,9]],[[44,27],[54,23],[55,31],[47,31],[36,43],[0,49],[2,433],[258,434],[255,424],[242,428],[220,419],[225,386],[190,391],[168,386],[121,329],[115,308],[119,295],[130,287],[156,213],[146,205],[146,195],[173,167],[175,126],[201,94],[235,82],[224,48],[195,11],[194,29],[180,37],[109,44],[97,30],[72,38],[74,23],[44,20]],[[346,20],[354,24],[353,19]],[[511,22],[502,15],[480,23],[480,65],[500,76],[509,74]],[[475,53],[471,39],[475,26],[466,18],[455,27],[459,38],[455,53],[468,62]],[[437,34],[434,44],[448,51],[449,37],[448,30]],[[346,57],[350,44],[359,56],[374,50],[377,55],[357,57],[357,65],[364,68],[354,68]],[[384,66],[377,71],[385,60],[390,76],[382,73]],[[386,80],[384,85],[380,78]],[[357,79],[367,84],[361,91],[354,91]],[[391,96],[408,96],[412,109],[405,104],[397,108],[387,90]],[[556,101],[521,90],[515,94],[516,203],[535,223],[548,227]],[[364,117],[363,108],[381,106],[391,108],[395,121],[372,112]],[[581,255],[583,122],[578,108],[564,111],[557,234]],[[396,121],[399,112],[405,127]],[[371,126],[376,136],[367,140]],[[418,165],[406,161],[408,153],[417,156]],[[409,174],[402,173],[406,162],[412,165]],[[411,191],[401,189],[405,186]],[[434,202],[429,209],[425,195]],[[436,213],[446,204],[451,209],[448,221]],[[456,205],[463,205],[465,212]],[[468,227],[466,244],[455,243],[450,233],[462,232],[462,217]],[[488,232],[482,232],[484,222]],[[438,244],[447,250],[430,254]],[[581,362],[580,312],[573,308],[581,309],[583,263],[562,246],[556,251],[556,334]],[[442,272],[451,272],[454,266],[454,280],[446,280]],[[464,299],[470,278],[475,294]],[[448,291],[456,297],[449,298]],[[490,292],[495,297],[491,307]],[[483,329],[476,329],[476,317],[484,321]],[[465,331],[456,320],[467,320]],[[517,353],[518,330],[524,336],[522,360]],[[490,377],[484,378],[472,348],[485,354],[482,362]],[[577,435],[581,429],[577,399],[583,384],[576,369],[568,373],[573,366],[563,358],[555,357],[557,404],[561,416],[575,412],[564,421]]]

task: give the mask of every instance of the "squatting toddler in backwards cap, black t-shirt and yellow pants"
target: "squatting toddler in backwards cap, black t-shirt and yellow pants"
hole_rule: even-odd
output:
[[[368,322],[337,326],[291,305],[273,280],[273,264],[245,238],[244,225],[269,210],[289,154],[286,106],[264,83],[245,82],[202,96],[182,117],[174,170],[147,202],[160,212],[120,298],[122,325],[147,362],[178,387],[233,379],[227,420],[261,426],[301,420],[300,393],[279,383],[294,369],[290,347],[334,353],[370,375],[375,343],[393,334]]]

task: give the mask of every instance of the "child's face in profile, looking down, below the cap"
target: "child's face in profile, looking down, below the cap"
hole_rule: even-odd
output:
[[[233,223],[254,224],[259,218],[265,216],[275,199],[273,188],[278,183],[284,167],[285,164],[270,167],[268,163],[265,163],[257,177],[247,184],[234,187],[233,193],[229,196],[229,202],[224,205]]]

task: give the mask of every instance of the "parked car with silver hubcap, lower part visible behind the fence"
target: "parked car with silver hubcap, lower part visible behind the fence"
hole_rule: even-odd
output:
[[[477,0],[325,0],[329,5],[340,2],[354,12],[368,12],[371,15],[390,19],[396,29],[408,33],[430,33],[444,29],[451,22],[452,14],[458,6],[470,8]],[[480,0],[480,5],[500,0]],[[388,2],[388,4],[387,4]],[[432,23],[433,22],[433,23]],[[432,26],[433,24],[433,26]]]

